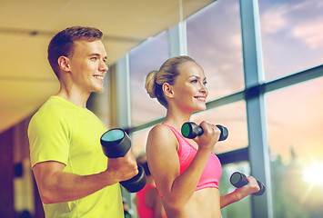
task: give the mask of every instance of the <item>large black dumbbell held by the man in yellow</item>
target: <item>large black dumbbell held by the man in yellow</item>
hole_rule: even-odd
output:
[[[107,131],[100,139],[103,153],[108,158],[123,157],[131,147],[129,136],[123,129],[115,128]],[[129,180],[122,181],[120,184],[129,193],[136,193],[146,185],[146,175],[142,165],[138,164],[138,173]]]

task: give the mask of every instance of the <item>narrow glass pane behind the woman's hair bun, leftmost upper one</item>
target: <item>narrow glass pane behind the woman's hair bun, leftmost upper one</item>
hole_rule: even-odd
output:
[[[158,70],[168,58],[167,31],[148,39],[129,53],[131,123],[142,124],[164,116],[166,109],[146,93],[146,75]],[[156,68],[158,67],[158,68]]]

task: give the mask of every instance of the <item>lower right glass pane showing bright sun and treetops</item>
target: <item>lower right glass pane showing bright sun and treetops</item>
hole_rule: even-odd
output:
[[[323,77],[268,93],[274,217],[323,214]]]

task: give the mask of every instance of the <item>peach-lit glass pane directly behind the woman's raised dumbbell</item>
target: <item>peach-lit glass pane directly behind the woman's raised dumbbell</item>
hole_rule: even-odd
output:
[[[204,120],[210,124],[221,124],[227,127],[228,137],[225,141],[217,143],[215,147],[216,154],[247,147],[247,114],[245,101],[216,107],[192,116],[192,121],[197,124]]]

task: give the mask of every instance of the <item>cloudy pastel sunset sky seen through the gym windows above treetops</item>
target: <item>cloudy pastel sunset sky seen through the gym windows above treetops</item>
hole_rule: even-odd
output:
[[[259,0],[264,79],[271,81],[323,64],[323,2],[319,0]],[[241,30],[237,0],[218,0],[187,19],[187,51],[207,75],[208,101],[244,89]],[[146,94],[146,74],[167,59],[167,33],[146,41],[130,53],[132,124],[165,115],[166,110]],[[323,78],[266,94],[268,144],[273,156],[288,163],[293,147],[300,161],[323,162]],[[229,138],[216,153],[247,146],[244,103],[206,113],[229,127]],[[147,131],[136,134],[144,148]]]

